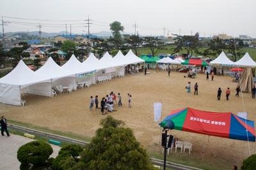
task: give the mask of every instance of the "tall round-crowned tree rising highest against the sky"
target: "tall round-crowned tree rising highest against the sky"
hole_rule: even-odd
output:
[[[110,30],[113,34],[113,37],[109,38],[109,41],[111,41],[115,48],[119,49],[122,45],[122,36],[120,34],[120,31],[124,31],[124,26],[121,25],[121,22],[114,21],[111,24],[109,24]]]

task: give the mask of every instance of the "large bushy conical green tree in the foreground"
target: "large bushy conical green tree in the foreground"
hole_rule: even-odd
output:
[[[84,169],[154,169],[145,150],[124,122],[108,116],[84,148],[79,164]]]

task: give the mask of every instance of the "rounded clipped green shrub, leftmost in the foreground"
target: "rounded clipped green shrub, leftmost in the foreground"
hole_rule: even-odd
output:
[[[20,169],[47,169],[51,165],[52,147],[43,141],[31,141],[20,146],[17,158]]]

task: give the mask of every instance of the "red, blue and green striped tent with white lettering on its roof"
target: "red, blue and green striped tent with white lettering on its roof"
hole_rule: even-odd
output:
[[[183,108],[172,111],[159,125],[164,127],[168,120],[172,120],[174,129],[179,131],[255,142],[254,121],[237,117],[231,112],[220,113]]]

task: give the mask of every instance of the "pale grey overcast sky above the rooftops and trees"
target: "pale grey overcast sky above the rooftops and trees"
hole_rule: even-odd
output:
[[[72,23],[72,32],[79,33],[87,30],[81,24],[90,15],[90,32],[109,31],[108,24],[117,20],[129,33],[134,32],[132,24],[136,22],[141,35],[163,35],[166,27],[166,35],[179,34],[180,29],[180,34],[212,36],[224,32],[256,38],[255,7],[255,0],[0,0],[0,15],[35,19],[4,18],[26,22],[9,23],[5,32],[37,31],[36,23],[41,22],[44,32],[65,31],[65,24]]]

